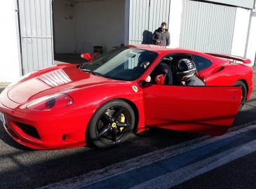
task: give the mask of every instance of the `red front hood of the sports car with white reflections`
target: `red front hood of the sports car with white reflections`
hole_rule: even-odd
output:
[[[26,80],[8,87],[7,95],[11,101],[22,104],[56,92],[109,82],[117,81],[83,72],[76,66],[56,66],[37,71]]]

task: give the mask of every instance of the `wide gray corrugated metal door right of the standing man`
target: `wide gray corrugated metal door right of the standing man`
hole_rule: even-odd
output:
[[[234,7],[184,0],[180,47],[230,54],[235,18]]]

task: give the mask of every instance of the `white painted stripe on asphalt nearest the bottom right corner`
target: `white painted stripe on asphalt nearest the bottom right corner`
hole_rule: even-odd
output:
[[[161,189],[171,188],[200,174],[209,172],[210,170],[225,165],[228,162],[236,160],[237,158],[241,158],[245,155],[253,153],[256,151],[255,146],[256,140],[242,146],[232,148],[229,151],[224,151],[223,153],[213,155],[212,157],[195,162],[187,167],[182,167],[155,179],[151,179],[150,181],[141,183],[140,185],[137,185],[131,189],[147,189],[152,188],[152,186],[154,186],[154,188]]]

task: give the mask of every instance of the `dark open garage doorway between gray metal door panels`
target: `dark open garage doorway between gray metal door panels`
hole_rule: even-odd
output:
[[[55,64],[82,63],[81,53],[124,43],[125,0],[53,0]]]

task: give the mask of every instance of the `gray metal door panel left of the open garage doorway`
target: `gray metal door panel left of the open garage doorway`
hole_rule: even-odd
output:
[[[51,0],[18,0],[23,73],[53,65]]]

